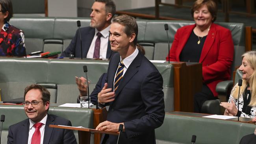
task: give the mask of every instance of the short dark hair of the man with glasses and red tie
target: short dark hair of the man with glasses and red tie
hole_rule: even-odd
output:
[[[30,86],[25,88],[25,90],[24,90],[24,100],[25,100],[25,96],[28,93],[28,91],[30,91],[32,89],[40,90],[40,92],[42,94],[43,102],[50,102],[50,97],[51,97],[50,92],[45,87],[43,87],[41,85],[37,85],[37,84],[33,84],[33,85],[30,85]]]

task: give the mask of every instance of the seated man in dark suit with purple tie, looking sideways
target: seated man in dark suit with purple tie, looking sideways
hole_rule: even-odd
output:
[[[109,25],[115,15],[115,4],[112,0],[95,0],[91,7],[91,23],[89,27],[81,28],[82,56],[86,58],[110,59],[113,52],[109,43]],[[81,57],[79,31],[61,56]]]

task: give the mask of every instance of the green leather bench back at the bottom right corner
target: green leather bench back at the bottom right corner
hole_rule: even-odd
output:
[[[230,120],[165,114],[163,125],[156,129],[156,144],[239,144],[256,126]]]

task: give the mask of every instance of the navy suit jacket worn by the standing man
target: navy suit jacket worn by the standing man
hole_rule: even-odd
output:
[[[119,53],[114,54],[108,66],[108,88],[113,81],[120,62]],[[163,78],[156,67],[139,52],[126,70],[115,100],[109,104],[107,120],[124,122],[125,132],[121,133],[120,144],[155,144],[154,129],[163,124],[165,105],[163,100]],[[117,143],[117,136],[104,135],[102,143]]]

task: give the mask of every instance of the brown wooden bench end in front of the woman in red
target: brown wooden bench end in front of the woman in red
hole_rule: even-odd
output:
[[[173,62],[174,111],[194,111],[194,94],[202,89],[202,64]]]

